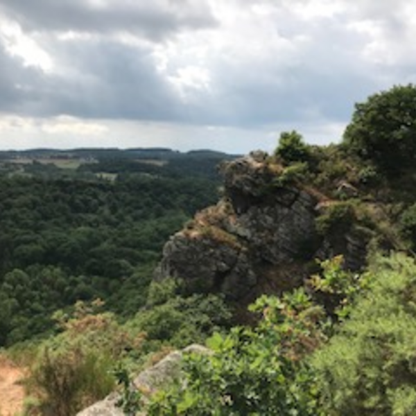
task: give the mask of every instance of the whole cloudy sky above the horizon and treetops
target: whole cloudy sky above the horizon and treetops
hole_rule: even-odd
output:
[[[0,0],[0,149],[337,142],[415,39],[408,0]]]

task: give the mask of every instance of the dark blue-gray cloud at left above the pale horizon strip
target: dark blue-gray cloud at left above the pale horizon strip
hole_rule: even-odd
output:
[[[180,118],[173,87],[155,70],[152,51],[94,39],[49,42],[55,71],[24,66],[0,44],[0,110],[26,116]],[[58,62],[58,63],[57,63]]]

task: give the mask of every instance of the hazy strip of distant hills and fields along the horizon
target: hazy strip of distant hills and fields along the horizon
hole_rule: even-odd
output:
[[[219,180],[218,164],[236,157],[207,149],[182,153],[169,148],[35,148],[0,151],[0,172],[89,180],[107,174],[193,175]]]

